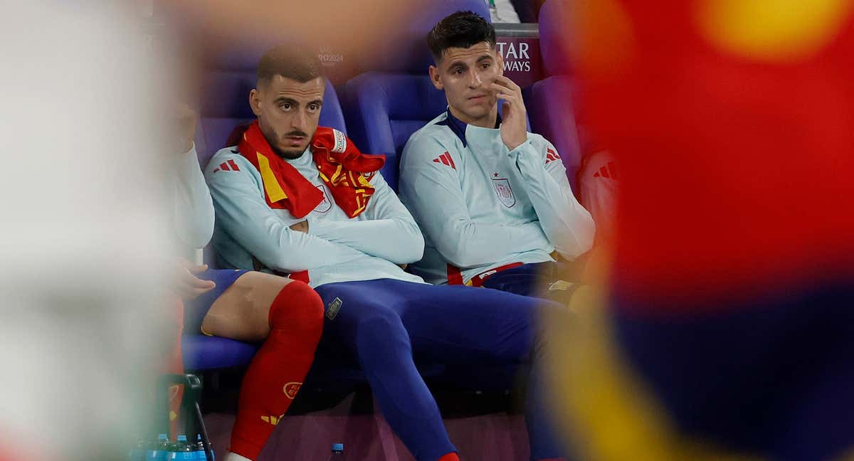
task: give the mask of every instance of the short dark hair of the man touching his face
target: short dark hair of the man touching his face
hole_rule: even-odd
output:
[[[495,46],[495,28],[473,11],[457,11],[440,20],[427,34],[427,47],[436,62],[448,48],[468,48],[488,42]]]

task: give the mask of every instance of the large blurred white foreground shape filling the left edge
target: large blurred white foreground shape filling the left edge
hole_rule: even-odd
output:
[[[0,434],[47,458],[110,456],[160,342],[169,73],[143,51],[137,13],[21,2],[0,15]]]

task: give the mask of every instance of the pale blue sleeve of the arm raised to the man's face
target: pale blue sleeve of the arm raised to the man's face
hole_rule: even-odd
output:
[[[525,179],[525,190],[548,240],[561,256],[575,260],[593,248],[596,226],[572,194],[557,149],[543,141],[545,152],[538,151],[529,137],[509,155]]]

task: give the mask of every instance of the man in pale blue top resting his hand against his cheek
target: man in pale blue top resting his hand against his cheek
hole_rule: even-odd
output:
[[[412,269],[430,283],[538,295],[538,282],[559,277],[556,260],[593,246],[593,219],[557,149],[527,131],[522,91],[504,77],[493,26],[453,13],[427,44],[447,111],[412,134],[401,158],[401,200],[426,241]]]

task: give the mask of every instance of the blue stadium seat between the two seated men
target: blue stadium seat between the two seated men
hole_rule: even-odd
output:
[[[399,156],[410,135],[447,107],[428,69],[427,32],[454,11],[471,10],[489,20],[483,0],[438,0],[424,3],[417,17],[383,40],[378,69],[350,79],[344,85],[344,114],[349,137],[362,152],[387,157],[383,176],[397,190]]]

